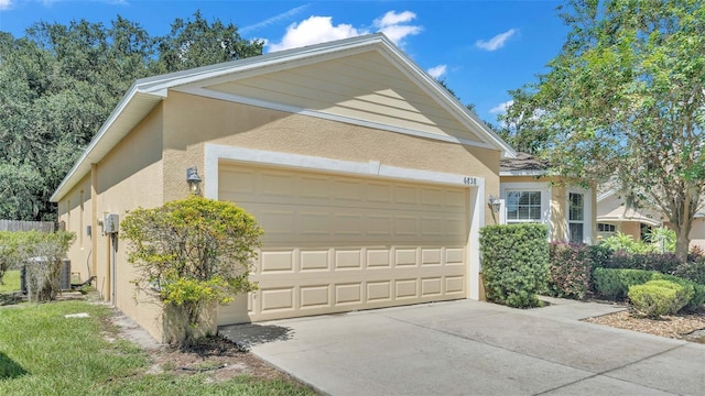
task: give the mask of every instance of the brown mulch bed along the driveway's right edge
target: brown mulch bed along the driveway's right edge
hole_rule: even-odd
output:
[[[626,310],[585,319],[586,322],[609,326],[618,329],[666,337],[679,340],[705,343],[705,311],[663,316],[649,319]]]

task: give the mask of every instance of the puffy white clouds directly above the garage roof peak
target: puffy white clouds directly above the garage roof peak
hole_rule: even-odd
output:
[[[422,26],[408,24],[416,18],[411,11],[397,13],[389,11],[372,22],[378,32],[384,33],[394,44],[401,45],[402,41],[414,34],[421,33]],[[358,29],[351,24],[333,24],[333,16],[313,15],[299,23],[292,23],[286,28],[286,33],[279,43],[270,43],[269,51],[282,51],[288,48],[313,45],[334,40],[355,37],[370,33],[368,29]]]

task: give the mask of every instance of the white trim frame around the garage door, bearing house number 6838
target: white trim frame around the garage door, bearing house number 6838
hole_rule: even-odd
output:
[[[468,219],[469,233],[466,245],[467,296],[470,299],[479,299],[479,230],[485,226],[485,178],[383,165],[380,161],[375,160],[362,163],[206,143],[204,144],[204,196],[206,198],[218,199],[220,161],[468,188],[470,218]]]

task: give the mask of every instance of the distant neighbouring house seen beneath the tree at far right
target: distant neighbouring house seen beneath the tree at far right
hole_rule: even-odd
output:
[[[668,218],[658,210],[632,208],[626,205],[622,194],[608,190],[597,197],[597,230],[601,238],[616,232],[631,235],[634,241],[643,240],[652,228],[669,227]],[[691,248],[705,250],[705,213],[696,213],[691,229]]]

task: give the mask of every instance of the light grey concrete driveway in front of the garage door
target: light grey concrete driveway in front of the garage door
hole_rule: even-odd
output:
[[[620,308],[459,300],[224,327],[330,395],[705,395],[705,345],[581,322]]]

